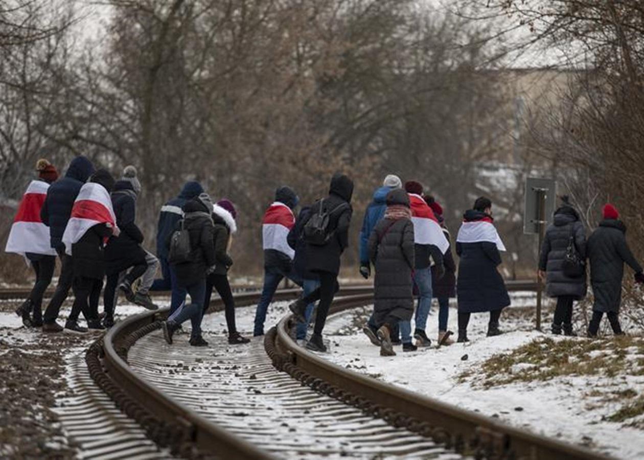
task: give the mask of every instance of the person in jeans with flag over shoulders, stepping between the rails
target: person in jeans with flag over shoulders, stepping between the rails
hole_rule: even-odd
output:
[[[275,191],[275,201],[264,213],[261,224],[261,241],[264,249],[264,286],[260,302],[255,311],[253,336],[264,334],[266,312],[275,291],[283,278],[289,278],[298,286],[302,278],[293,270],[295,251],[289,246],[287,236],[295,225],[293,209],[298,206],[299,198],[290,187],[279,187]]]

